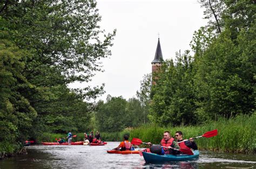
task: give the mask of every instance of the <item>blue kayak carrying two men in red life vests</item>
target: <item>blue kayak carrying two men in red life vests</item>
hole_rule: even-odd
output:
[[[180,155],[171,155],[171,154],[164,154],[158,155],[155,153],[149,152],[142,152],[143,157],[146,163],[161,163],[166,161],[188,161],[188,160],[196,160],[199,157],[199,151],[194,150],[193,155],[187,154],[180,154]]]

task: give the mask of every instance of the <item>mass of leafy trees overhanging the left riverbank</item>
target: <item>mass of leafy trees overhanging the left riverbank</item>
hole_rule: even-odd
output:
[[[103,71],[116,31],[100,30],[95,1],[1,1],[1,137],[86,130],[103,87],[70,89]]]

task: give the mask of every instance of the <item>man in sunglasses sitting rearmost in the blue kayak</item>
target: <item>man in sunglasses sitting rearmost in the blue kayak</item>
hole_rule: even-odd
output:
[[[177,142],[183,141],[183,138],[182,138],[183,137],[183,133],[181,131],[176,131],[175,137],[177,139]],[[178,143],[178,145],[180,146],[180,149],[198,150],[197,144],[194,142],[193,138],[190,138],[189,140],[187,140],[185,142]]]

